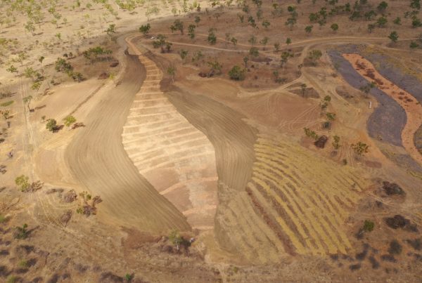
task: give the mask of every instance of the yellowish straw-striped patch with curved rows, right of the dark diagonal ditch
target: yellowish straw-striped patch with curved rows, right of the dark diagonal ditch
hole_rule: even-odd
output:
[[[366,186],[366,180],[357,183],[359,172],[339,168],[287,139],[260,134],[254,149],[249,196],[257,214],[285,246],[291,246],[290,252],[352,251],[342,227]]]

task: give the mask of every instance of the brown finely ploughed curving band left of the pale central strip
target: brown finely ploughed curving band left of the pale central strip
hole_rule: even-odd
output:
[[[148,232],[190,230],[186,218],[143,178],[122,146],[122,129],[145,79],[138,58],[127,56],[122,84],[111,88],[75,135],[65,161],[84,190],[100,195],[98,218]],[[111,218],[111,219],[110,219]]]

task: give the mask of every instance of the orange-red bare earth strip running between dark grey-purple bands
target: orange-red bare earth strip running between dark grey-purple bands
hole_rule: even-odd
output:
[[[404,148],[409,152],[419,164],[422,164],[422,155],[416,148],[414,136],[422,124],[422,106],[418,100],[407,91],[402,90],[388,79],[379,74],[369,60],[361,55],[343,54],[350,64],[359,74],[369,81],[376,81],[377,87],[393,98],[406,111],[407,121],[402,131],[402,143]]]

